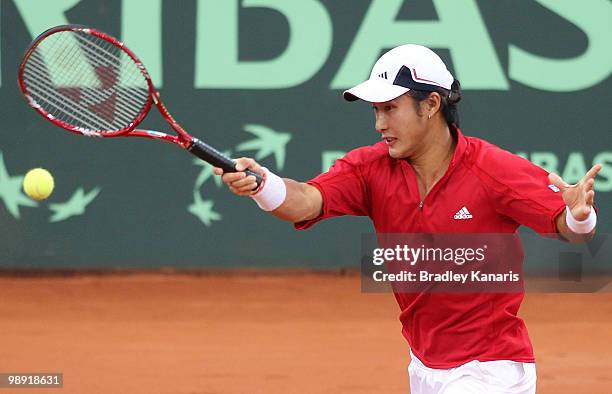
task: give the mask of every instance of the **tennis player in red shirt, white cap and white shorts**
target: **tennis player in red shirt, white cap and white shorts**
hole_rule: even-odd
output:
[[[510,233],[525,225],[583,242],[595,232],[595,165],[575,185],[458,128],[460,84],[430,49],[385,53],[370,78],[344,92],[372,103],[381,142],[349,152],[306,182],[281,179],[253,159],[217,175],[229,189],[306,229],[340,215],[369,216],[377,233]],[[411,349],[411,392],[535,393],[523,293],[396,293]]]

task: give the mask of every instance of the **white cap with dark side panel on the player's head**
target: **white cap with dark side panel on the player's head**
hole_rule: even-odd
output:
[[[453,75],[431,49],[407,44],[391,49],[376,61],[370,79],[344,91],[348,101],[382,103],[393,100],[410,89],[451,90]]]

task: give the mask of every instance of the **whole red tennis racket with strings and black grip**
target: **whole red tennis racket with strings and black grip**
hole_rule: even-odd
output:
[[[19,86],[39,114],[74,133],[163,140],[225,172],[236,172],[232,159],[189,135],[172,118],[140,60],[108,34],[78,25],[45,31],[21,61]],[[136,129],[153,104],[176,135]],[[261,176],[245,172],[259,187]]]

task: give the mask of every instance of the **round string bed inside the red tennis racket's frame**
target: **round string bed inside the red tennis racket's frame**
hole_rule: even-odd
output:
[[[24,84],[50,116],[82,132],[116,132],[149,100],[146,78],[121,48],[81,31],[41,41],[28,58]]]

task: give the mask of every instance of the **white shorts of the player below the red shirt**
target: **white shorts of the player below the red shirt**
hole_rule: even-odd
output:
[[[470,361],[450,369],[426,367],[412,352],[408,366],[411,394],[534,394],[534,363]]]

